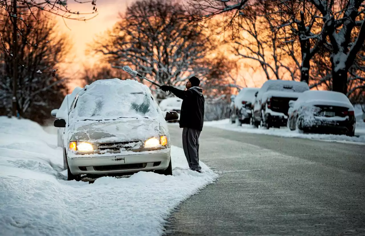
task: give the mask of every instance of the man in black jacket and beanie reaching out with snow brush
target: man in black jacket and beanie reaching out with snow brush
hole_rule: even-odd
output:
[[[193,76],[187,81],[187,90],[162,85],[162,91],[170,91],[183,99],[180,112],[180,128],[183,128],[183,148],[191,170],[201,173],[199,165],[199,136],[204,122],[204,96],[199,88],[200,80]]]

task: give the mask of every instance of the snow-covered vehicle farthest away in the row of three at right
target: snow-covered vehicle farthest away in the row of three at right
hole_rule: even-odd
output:
[[[231,123],[240,126],[242,123],[250,123],[252,116],[252,104],[255,101],[255,93],[260,88],[242,88],[234,99],[233,108],[231,108]]]

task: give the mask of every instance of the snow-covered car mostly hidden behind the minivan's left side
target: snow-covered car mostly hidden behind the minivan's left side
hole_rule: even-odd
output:
[[[80,87],[74,88],[71,94],[68,94],[65,96],[64,100],[62,101],[61,106],[58,109],[53,109],[51,111],[51,115],[55,118],[62,118],[66,117],[68,111],[70,110],[71,104],[73,102],[73,99],[75,99],[76,94],[82,90]],[[67,108],[68,107],[68,108]],[[64,127],[58,127],[57,128],[57,146],[62,147],[64,143]]]

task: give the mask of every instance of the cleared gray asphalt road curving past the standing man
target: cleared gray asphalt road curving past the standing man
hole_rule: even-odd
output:
[[[204,127],[200,159],[221,176],[181,203],[166,235],[365,235],[364,145]]]

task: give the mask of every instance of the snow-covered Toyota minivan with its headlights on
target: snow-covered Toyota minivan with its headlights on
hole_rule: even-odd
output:
[[[105,79],[77,93],[65,127],[64,167],[68,180],[81,175],[123,175],[155,171],[172,175],[167,120],[149,88],[135,80]]]

